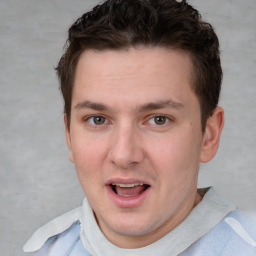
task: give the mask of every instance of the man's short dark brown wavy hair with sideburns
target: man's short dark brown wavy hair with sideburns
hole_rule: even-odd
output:
[[[217,107],[222,69],[219,41],[209,23],[185,0],[107,0],[80,17],[69,29],[65,53],[56,67],[68,126],[72,88],[81,53],[87,49],[121,50],[137,45],[180,49],[191,56],[193,90],[204,131]]]

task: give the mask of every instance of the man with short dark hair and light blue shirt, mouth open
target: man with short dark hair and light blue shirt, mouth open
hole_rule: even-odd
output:
[[[200,162],[218,148],[222,70],[186,1],[109,0],[69,29],[56,68],[86,199],[40,228],[32,255],[256,255],[255,229]]]

